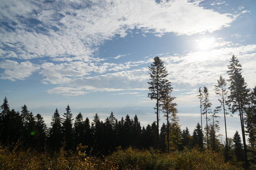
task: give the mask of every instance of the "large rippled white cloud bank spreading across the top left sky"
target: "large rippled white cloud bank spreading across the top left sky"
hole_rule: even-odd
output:
[[[125,37],[135,27],[156,36],[166,32],[193,35],[229,27],[233,22],[231,14],[207,10],[199,2],[115,0],[93,1],[88,5],[87,1],[3,1],[1,20],[13,30],[1,28],[0,53],[7,58],[88,61],[97,46],[115,35]]]

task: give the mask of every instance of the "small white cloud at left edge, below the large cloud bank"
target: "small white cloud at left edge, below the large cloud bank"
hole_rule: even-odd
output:
[[[1,79],[9,79],[11,81],[24,80],[28,76],[32,75],[35,71],[39,70],[40,67],[29,61],[16,62],[11,60],[4,60],[0,62],[0,68],[5,69],[1,75]]]

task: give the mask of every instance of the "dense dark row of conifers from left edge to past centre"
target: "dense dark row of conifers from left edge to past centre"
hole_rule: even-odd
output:
[[[158,128],[156,123],[142,127],[137,115],[131,118],[128,114],[125,118],[117,120],[113,112],[101,120],[96,113],[93,120],[83,118],[79,113],[75,118],[69,105],[63,117],[56,109],[51,120],[51,127],[47,128],[40,114],[34,115],[28,111],[26,105],[21,111],[10,110],[7,97],[1,105],[0,115],[0,139],[3,145],[15,146],[19,143],[24,148],[34,148],[38,151],[58,151],[64,146],[65,150],[75,150],[81,143],[88,146],[88,152],[93,155],[106,155],[121,148],[160,148],[166,151],[167,125],[163,124],[158,141]],[[197,146],[192,143],[192,137],[188,129],[179,129],[180,139],[175,143],[174,150],[182,150],[184,147]],[[176,146],[175,146],[176,145]]]

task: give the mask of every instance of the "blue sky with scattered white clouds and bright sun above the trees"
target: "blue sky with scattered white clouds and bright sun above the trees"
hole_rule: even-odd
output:
[[[199,87],[214,85],[234,54],[249,88],[256,85],[254,0],[1,0],[0,97],[20,111],[26,104],[47,125],[67,105],[92,121],[113,111],[118,120],[137,114],[156,120],[147,97],[148,66],[158,56],[168,70],[181,129],[200,122]],[[224,118],[219,114],[224,134]],[[166,122],[160,114],[160,124]],[[228,135],[241,132],[237,114]],[[205,124],[205,118],[203,120]],[[241,134],[241,133],[240,133]]]

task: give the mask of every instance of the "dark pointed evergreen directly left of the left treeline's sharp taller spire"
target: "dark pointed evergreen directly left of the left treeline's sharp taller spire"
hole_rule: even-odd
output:
[[[49,129],[48,144],[52,150],[60,150],[63,142],[63,133],[61,126],[61,118],[58,109],[56,108],[52,116],[51,128]]]

